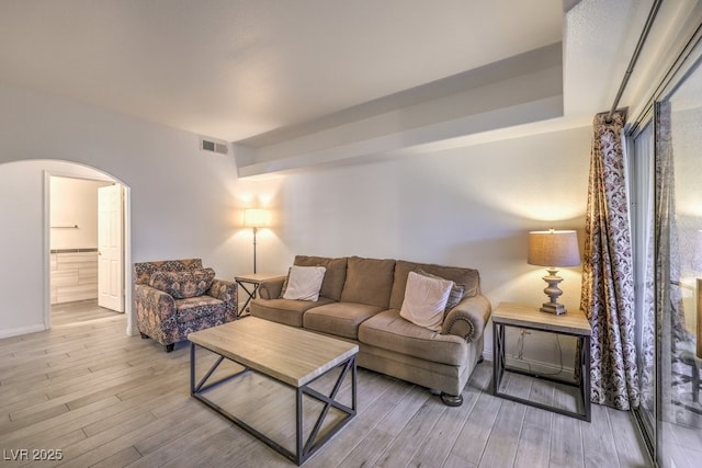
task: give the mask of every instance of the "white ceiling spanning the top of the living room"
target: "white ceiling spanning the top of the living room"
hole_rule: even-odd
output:
[[[591,119],[611,104],[649,8],[650,0],[3,0],[0,81],[239,141],[563,41],[566,116]]]

